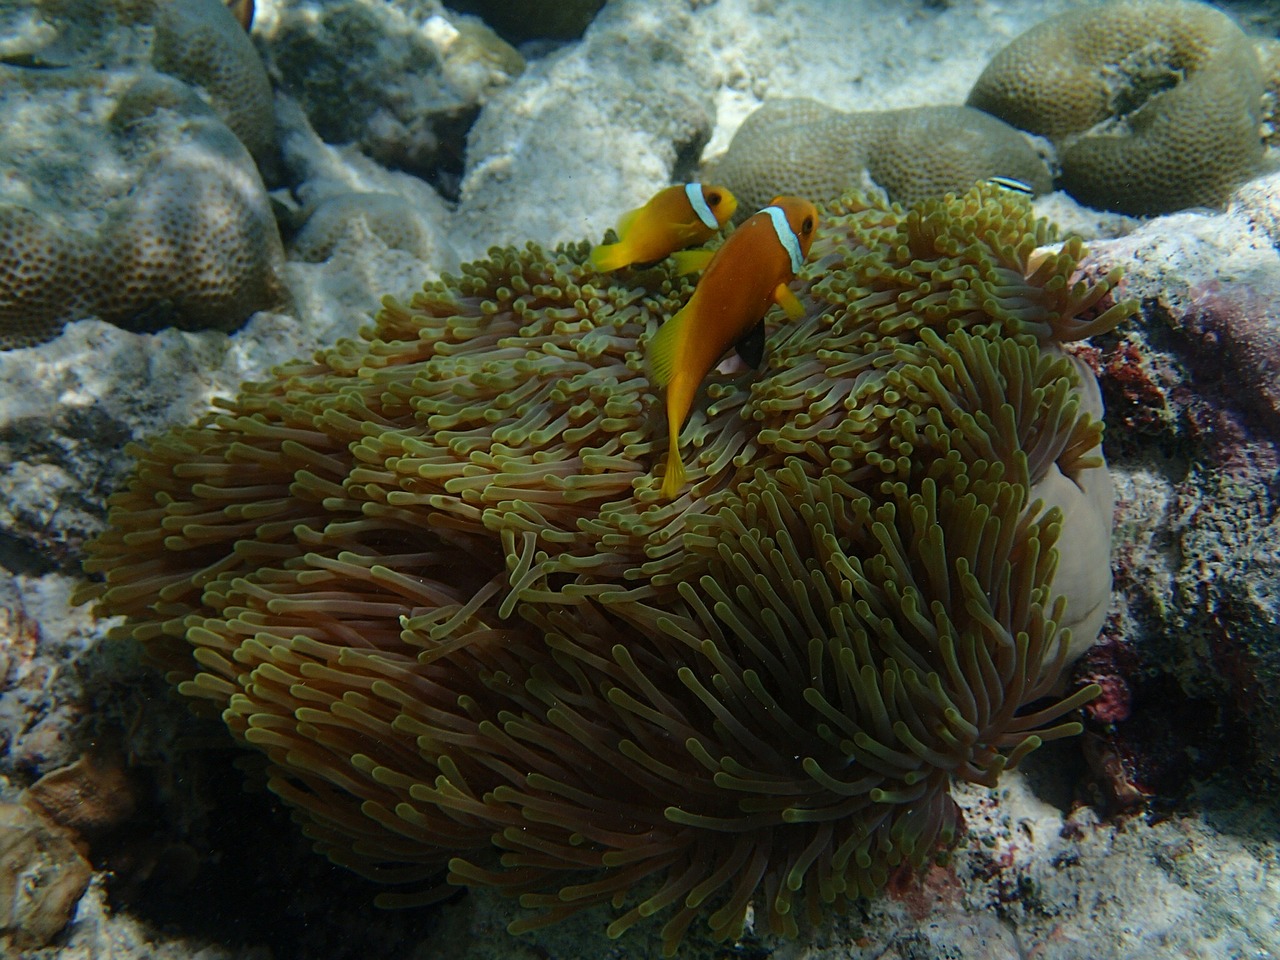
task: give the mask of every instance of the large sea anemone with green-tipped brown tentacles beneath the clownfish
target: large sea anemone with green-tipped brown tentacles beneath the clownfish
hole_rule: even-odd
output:
[[[795,931],[924,863],[952,777],[1094,692],[1030,707],[1108,588],[1101,425],[1055,343],[1133,305],[1048,239],[991,187],[829,210],[805,317],[710,378],[673,502],[641,353],[687,283],[494,250],[134,445],[84,598],[319,851],[419,884],[388,902],[448,868],[520,896],[515,931],[608,901],[668,952],[753,904]]]

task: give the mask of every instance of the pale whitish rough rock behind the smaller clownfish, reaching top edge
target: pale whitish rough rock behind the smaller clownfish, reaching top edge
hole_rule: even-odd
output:
[[[717,110],[716,9],[663,10],[611,5],[581,42],[485,105],[467,132],[451,227],[463,259],[603,234],[659,187],[694,179],[687,168]]]

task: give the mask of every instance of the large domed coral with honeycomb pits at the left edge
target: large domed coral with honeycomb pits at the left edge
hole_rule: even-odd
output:
[[[280,303],[284,252],[241,141],[189,87],[154,73],[106,101],[101,128],[76,114],[60,125],[76,83],[23,74],[0,102],[49,123],[36,150],[18,145],[32,134],[20,122],[0,142],[24,157],[0,195],[0,349],[90,315],[229,329]]]

